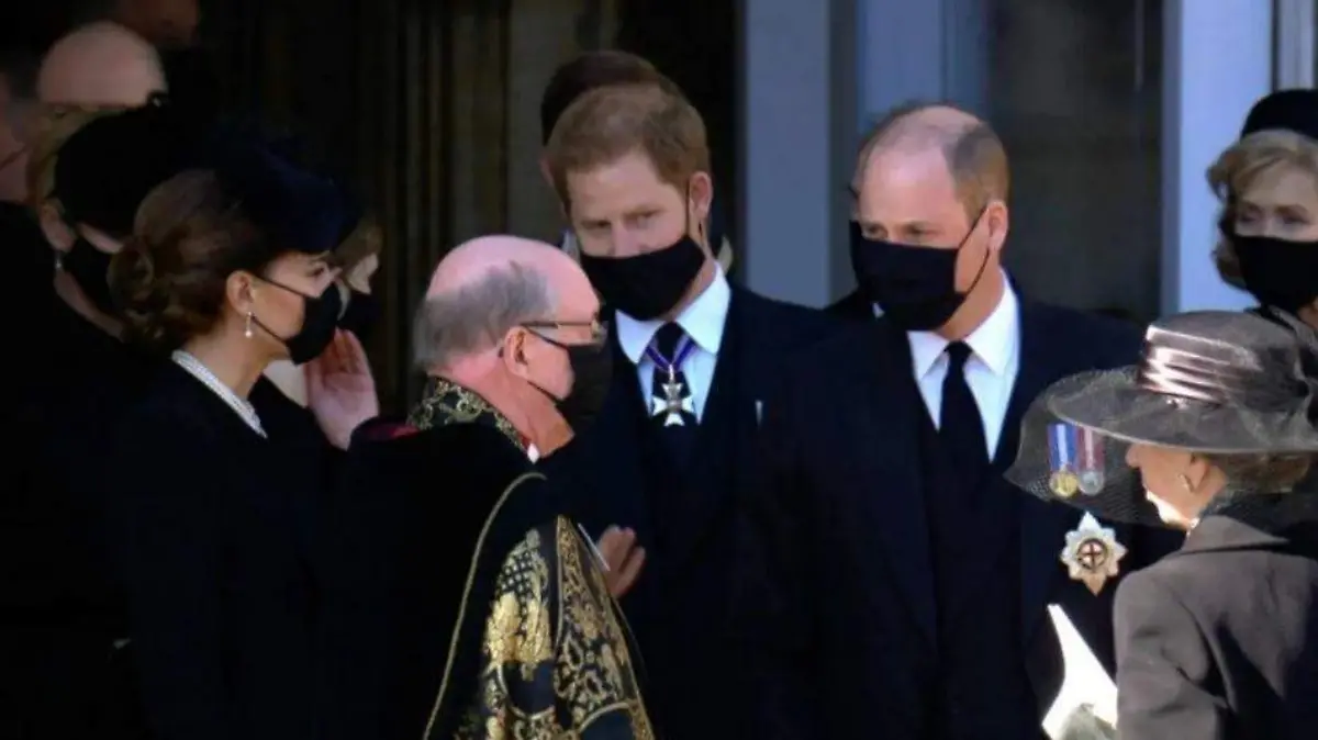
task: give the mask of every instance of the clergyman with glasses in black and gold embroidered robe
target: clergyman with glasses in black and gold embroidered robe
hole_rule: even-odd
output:
[[[600,556],[532,467],[608,384],[598,311],[547,244],[440,262],[424,396],[357,433],[328,517],[327,737],[652,737]]]

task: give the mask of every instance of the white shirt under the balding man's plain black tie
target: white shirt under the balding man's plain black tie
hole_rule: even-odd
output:
[[[965,340],[971,350],[966,359],[966,384],[975,396],[985,423],[990,460],[998,452],[1007,404],[1020,369],[1020,303],[1006,277],[1003,283],[998,307]],[[920,384],[920,395],[937,427],[942,413],[942,382],[948,377],[949,342],[933,332],[907,332],[907,338],[911,342],[911,365]]]

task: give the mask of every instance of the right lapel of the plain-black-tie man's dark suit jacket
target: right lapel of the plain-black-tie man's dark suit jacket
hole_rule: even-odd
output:
[[[995,461],[1006,470],[1016,458],[1020,444],[1020,420],[1029,404],[1054,381],[1072,371],[1075,358],[1068,353],[1066,338],[1057,336],[1048,317],[1029,302],[1020,303],[1020,369],[1011,390],[1007,417]],[[1058,342],[1062,342],[1058,346]],[[1020,507],[1020,616],[1025,644],[1033,637],[1039,618],[1048,602],[1049,586],[1061,573],[1060,553],[1066,532],[1079,514],[1061,504],[1049,504],[1010,487],[1019,496]]]

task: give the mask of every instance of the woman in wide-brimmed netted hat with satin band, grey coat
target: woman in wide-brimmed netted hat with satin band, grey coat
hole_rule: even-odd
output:
[[[1318,382],[1297,336],[1252,313],[1172,316],[1137,366],[1064,379],[1025,417],[1019,486],[1188,532],[1116,591],[1123,740],[1318,737]],[[1061,560],[1097,591],[1123,553],[1086,516]]]

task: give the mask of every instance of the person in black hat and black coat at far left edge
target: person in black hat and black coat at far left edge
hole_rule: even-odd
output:
[[[119,338],[107,266],[137,203],[183,166],[188,129],[153,104],[50,111],[37,132],[29,190],[59,269],[45,290],[17,286],[28,300],[7,312],[18,384],[0,463],[0,736],[138,737],[98,471],[152,361]]]

